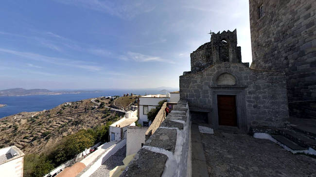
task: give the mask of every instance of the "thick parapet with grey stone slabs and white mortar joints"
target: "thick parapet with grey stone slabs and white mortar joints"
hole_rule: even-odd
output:
[[[189,106],[180,100],[121,177],[191,176],[190,127]]]

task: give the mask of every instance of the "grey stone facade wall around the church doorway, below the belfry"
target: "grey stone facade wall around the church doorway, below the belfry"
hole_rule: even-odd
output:
[[[281,72],[255,71],[240,63],[213,65],[203,71],[180,76],[180,99],[188,101],[190,110],[214,111],[212,86],[216,86],[216,78],[222,73],[235,76],[236,86],[245,86],[243,109],[246,109],[248,126],[283,125],[288,117],[288,106],[285,76]]]

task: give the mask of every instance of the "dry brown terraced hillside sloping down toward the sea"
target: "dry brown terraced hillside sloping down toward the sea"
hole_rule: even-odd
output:
[[[105,106],[111,104],[106,99],[100,102]],[[16,145],[26,154],[41,153],[64,136],[105,124],[115,115],[116,112],[100,108],[90,99],[64,103],[50,110],[21,112],[0,119],[0,148]]]

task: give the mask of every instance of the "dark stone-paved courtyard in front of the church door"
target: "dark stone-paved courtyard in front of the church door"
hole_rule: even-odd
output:
[[[210,177],[316,177],[316,159],[269,140],[215,131],[200,133]]]

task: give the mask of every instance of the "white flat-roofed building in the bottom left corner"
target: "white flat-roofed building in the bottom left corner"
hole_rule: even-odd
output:
[[[17,146],[0,149],[0,176],[23,177],[24,153]]]

